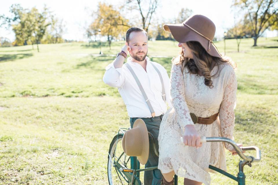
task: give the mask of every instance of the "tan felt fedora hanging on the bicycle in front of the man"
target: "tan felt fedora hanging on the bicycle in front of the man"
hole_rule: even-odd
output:
[[[128,156],[136,156],[141,164],[149,159],[149,134],[145,122],[136,119],[133,128],[125,132],[122,138],[122,149]]]

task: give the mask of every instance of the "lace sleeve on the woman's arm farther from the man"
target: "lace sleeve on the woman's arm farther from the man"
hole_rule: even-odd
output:
[[[228,80],[224,89],[223,100],[220,105],[219,119],[221,125],[221,136],[234,140],[233,129],[235,125],[235,106],[237,93],[237,79],[235,71],[232,70],[228,76]],[[224,143],[225,148],[232,150],[232,145]]]

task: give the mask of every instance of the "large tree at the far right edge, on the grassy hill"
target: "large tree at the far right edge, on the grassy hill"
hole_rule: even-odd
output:
[[[246,10],[253,32],[253,46],[257,46],[257,39],[273,25],[270,18],[278,11],[277,0],[234,0],[233,6]]]

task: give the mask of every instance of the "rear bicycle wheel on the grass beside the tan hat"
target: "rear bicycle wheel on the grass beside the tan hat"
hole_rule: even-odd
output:
[[[123,168],[130,168],[130,156],[127,156],[122,149],[122,137],[122,135],[116,135],[110,144],[107,164],[109,185],[129,183],[125,175],[118,170],[119,165],[116,165],[120,164]]]

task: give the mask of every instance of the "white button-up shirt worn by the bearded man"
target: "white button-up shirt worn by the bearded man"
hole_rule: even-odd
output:
[[[162,86],[160,77],[157,71],[150,64],[148,57],[146,57],[147,66],[146,71],[144,68],[136,63],[132,62],[130,58],[127,58],[127,63],[131,66],[134,73],[138,77],[143,89],[145,90],[148,99],[150,100],[151,106],[153,107],[155,116],[160,116],[167,111],[167,105],[162,98]],[[160,71],[166,94],[166,101],[169,107],[172,107],[170,101],[170,87],[169,87],[169,76],[166,69],[156,62],[152,62]],[[120,95],[127,106],[127,112],[129,117],[134,118],[150,118],[151,111],[140,91],[134,77],[124,64],[121,68],[114,67],[113,62],[105,67],[106,72],[103,76],[103,82],[112,87],[117,87]]]

